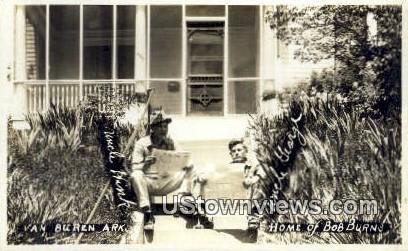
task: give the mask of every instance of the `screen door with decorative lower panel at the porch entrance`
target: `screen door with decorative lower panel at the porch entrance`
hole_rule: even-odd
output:
[[[224,22],[187,22],[187,115],[224,114]]]

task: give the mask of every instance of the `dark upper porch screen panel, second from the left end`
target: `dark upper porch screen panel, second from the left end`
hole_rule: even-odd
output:
[[[79,6],[50,6],[50,79],[79,79]]]

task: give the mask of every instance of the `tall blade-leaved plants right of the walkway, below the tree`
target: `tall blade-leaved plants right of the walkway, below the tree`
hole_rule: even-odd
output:
[[[285,243],[400,243],[401,124],[400,118],[374,120],[354,110],[352,103],[328,95],[326,99],[297,96],[285,113],[276,117],[254,116],[251,129],[256,155],[268,174],[262,180],[267,196],[275,199],[375,199],[379,214],[355,216],[356,220],[389,223],[381,234],[301,233],[266,235],[266,241]],[[301,115],[300,115],[301,114]],[[289,145],[293,121],[305,144],[293,142],[289,161],[275,154]],[[278,151],[279,152],[279,151]],[[274,186],[278,184],[279,186]],[[347,215],[268,215],[268,222],[316,223],[320,219],[347,222]]]

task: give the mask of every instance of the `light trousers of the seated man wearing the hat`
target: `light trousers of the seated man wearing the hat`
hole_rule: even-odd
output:
[[[180,188],[192,193],[197,174],[194,168],[179,171],[167,177],[146,175],[142,170],[131,173],[131,182],[139,202],[139,208],[150,208],[150,196],[164,196]]]

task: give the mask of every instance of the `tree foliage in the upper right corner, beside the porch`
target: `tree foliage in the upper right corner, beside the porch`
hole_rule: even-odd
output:
[[[364,96],[356,101],[381,115],[400,111],[401,6],[276,6],[265,19],[278,39],[297,45],[296,58],[334,59],[336,88],[326,91]]]

